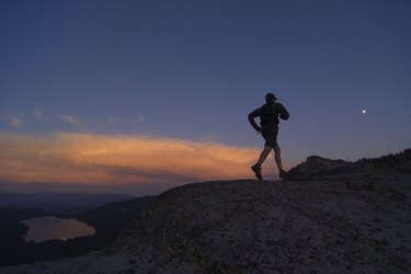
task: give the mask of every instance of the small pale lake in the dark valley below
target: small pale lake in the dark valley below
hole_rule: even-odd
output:
[[[95,229],[76,219],[58,219],[54,216],[22,220],[28,226],[24,236],[26,241],[68,240],[81,236],[94,235]]]

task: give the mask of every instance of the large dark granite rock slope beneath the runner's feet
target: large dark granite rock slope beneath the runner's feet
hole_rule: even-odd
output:
[[[334,178],[180,186],[109,249],[0,273],[410,273],[411,175]]]

